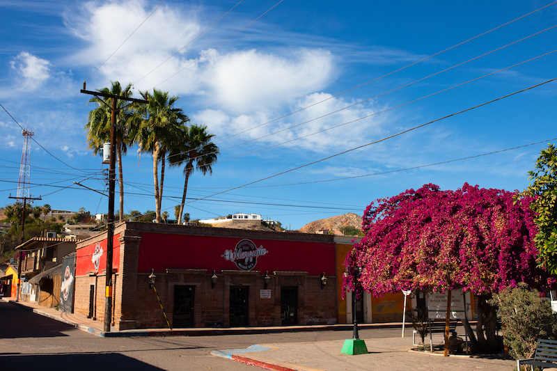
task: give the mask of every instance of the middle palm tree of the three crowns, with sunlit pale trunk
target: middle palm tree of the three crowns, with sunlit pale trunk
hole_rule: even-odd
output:
[[[180,97],[171,97],[168,92],[163,93],[157,89],[153,89],[152,94],[141,92],[141,95],[148,103],[138,106],[136,118],[139,118],[140,122],[135,135],[139,142],[139,150],[152,154],[155,218],[157,223],[160,223],[166,152],[173,146],[173,141],[180,137],[180,128],[186,125],[189,118],[182,109],[174,106]],[[160,182],[159,163],[161,164]]]

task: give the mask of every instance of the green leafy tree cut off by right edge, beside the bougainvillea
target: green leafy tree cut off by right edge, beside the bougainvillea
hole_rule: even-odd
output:
[[[553,144],[542,150],[528,175],[532,182],[524,194],[535,196],[531,207],[539,228],[534,239],[540,253],[538,264],[557,274],[557,150]]]

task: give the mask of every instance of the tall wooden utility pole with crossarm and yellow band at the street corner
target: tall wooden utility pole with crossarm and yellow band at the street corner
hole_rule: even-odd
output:
[[[114,239],[114,188],[116,183],[116,145],[114,145],[114,129],[116,125],[116,116],[118,115],[117,102],[118,100],[125,100],[126,102],[143,103],[147,104],[146,100],[138,100],[134,98],[122,97],[120,95],[100,93],[97,91],[85,90],[85,82],[81,93],[88,95],[95,95],[99,100],[100,97],[110,98],[112,104],[109,106],[107,102],[101,100],[106,106],[111,109],[110,117],[110,165],[109,165],[109,215],[107,220],[107,276],[105,279],[105,294],[104,294],[104,332],[110,332],[110,324],[112,322],[112,251]],[[122,159],[120,159],[122,161]]]

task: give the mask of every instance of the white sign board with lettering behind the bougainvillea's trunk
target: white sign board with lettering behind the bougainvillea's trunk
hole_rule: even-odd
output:
[[[433,292],[427,294],[425,303],[427,304],[427,314],[430,319],[445,319],[447,315],[447,294],[448,292]],[[464,305],[466,301],[466,305]],[[467,318],[471,318],[470,293],[466,292],[466,300],[462,290],[450,292],[450,319],[464,319],[464,310]]]

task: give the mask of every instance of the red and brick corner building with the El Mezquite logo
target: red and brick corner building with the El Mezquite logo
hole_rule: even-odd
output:
[[[106,233],[77,245],[74,311],[100,321],[106,249]],[[173,328],[336,322],[333,236],[122,223],[113,242],[117,330],[167,326],[151,269]]]

